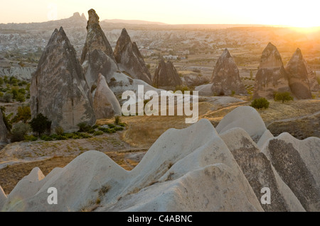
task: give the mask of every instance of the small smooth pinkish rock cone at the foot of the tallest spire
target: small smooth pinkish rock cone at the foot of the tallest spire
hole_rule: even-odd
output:
[[[112,118],[114,115],[122,115],[121,107],[116,96],[107,85],[105,77],[99,74],[97,89],[93,99],[95,118]]]

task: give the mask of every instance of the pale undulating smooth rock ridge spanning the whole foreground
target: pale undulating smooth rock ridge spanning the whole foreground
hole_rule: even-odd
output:
[[[132,171],[97,151],[18,182],[3,211],[320,211],[320,139],[273,137],[254,108],[159,137]],[[58,204],[48,205],[48,188]],[[263,205],[262,188],[271,191]]]

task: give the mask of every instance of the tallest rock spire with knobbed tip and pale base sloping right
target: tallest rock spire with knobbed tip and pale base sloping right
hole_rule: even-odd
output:
[[[100,73],[105,77],[108,86],[116,95],[121,95],[128,90],[137,91],[138,85],[143,85],[145,91],[156,90],[146,84],[145,81],[132,79],[132,77],[119,71],[110,43],[100,28],[99,16],[93,9],[90,9],[88,13],[87,39],[82,50],[81,63],[90,90],[94,91],[97,87],[97,79]],[[134,62],[134,64],[137,64],[137,62]]]

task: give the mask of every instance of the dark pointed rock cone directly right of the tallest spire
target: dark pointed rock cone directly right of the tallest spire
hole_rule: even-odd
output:
[[[129,73],[134,79],[141,79],[151,85],[151,74],[146,67],[144,58],[137,44],[132,43],[125,28],[122,29],[122,33],[117,40],[114,57],[122,71]]]

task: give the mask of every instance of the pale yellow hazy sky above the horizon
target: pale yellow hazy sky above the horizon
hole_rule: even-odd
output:
[[[319,0],[1,0],[0,23],[43,22],[95,9],[104,19],[171,24],[320,26]]]

